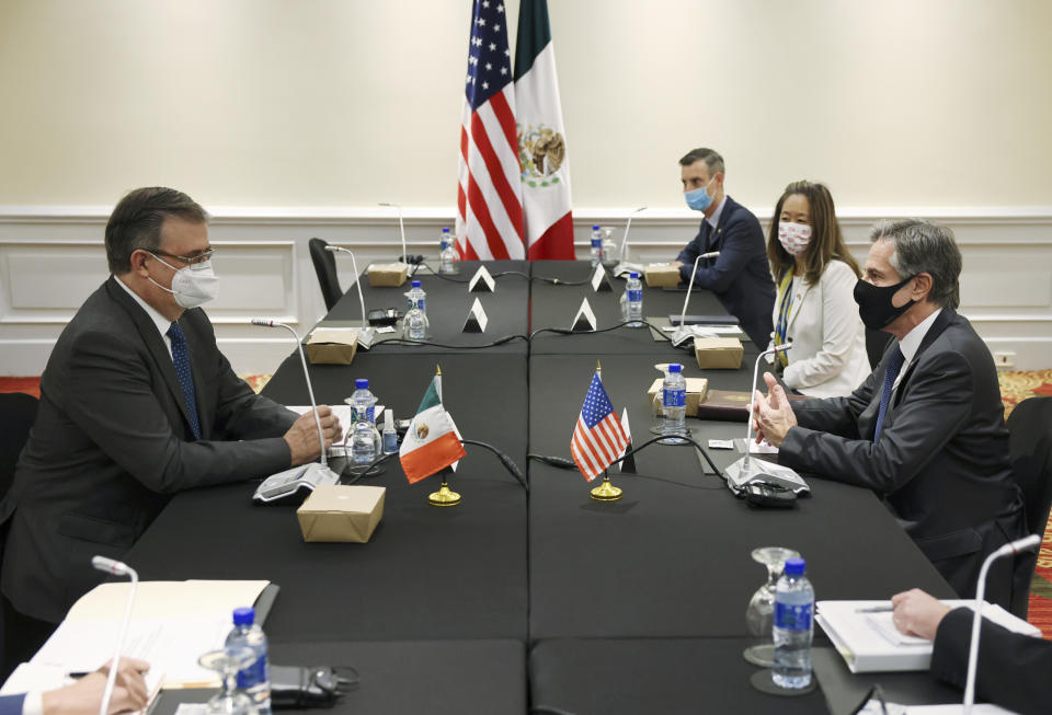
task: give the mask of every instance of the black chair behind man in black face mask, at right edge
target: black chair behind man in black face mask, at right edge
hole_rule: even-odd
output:
[[[1011,473],[1022,491],[1027,532],[1044,537],[1052,508],[1052,397],[1028,397],[1008,415]],[[1036,552],[1016,557],[1011,612],[1026,620]]]

